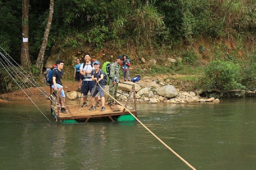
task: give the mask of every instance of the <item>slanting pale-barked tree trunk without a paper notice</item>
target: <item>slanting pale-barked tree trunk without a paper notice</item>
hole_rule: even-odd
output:
[[[37,60],[36,60],[36,68],[39,70],[39,72],[43,71],[44,52],[45,52],[46,44],[47,44],[47,41],[48,41],[48,35],[49,35],[49,32],[50,32],[51,24],[52,24],[53,4],[54,4],[54,0],[51,0],[50,1],[50,10],[49,10],[48,22],[47,22],[47,25],[46,25],[45,31],[44,31],[44,40],[43,40],[41,49],[39,51],[39,54],[38,54],[38,57],[37,57]]]

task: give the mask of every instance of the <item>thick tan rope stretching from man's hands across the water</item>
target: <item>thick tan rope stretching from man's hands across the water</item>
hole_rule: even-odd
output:
[[[98,85],[100,86],[99,82],[97,81]],[[124,107],[124,105],[122,105],[119,101],[117,101],[113,96],[111,96],[108,92],[106,92],[101,86],[100,88],[108,94],[108,96],[110,96],[112,99],[114,99],[119,105],[121,105],[122,107]],[[135,99],[134,99],[135,100]],[[167,144],[165,144],[159,137],[157,137],[150,129],[148,129],[147,126],[145,126],[142,122],[140,122],[140,120],[135,117],[132,112],[130,112],[129,109],[127,109],[126,107],[124,107],[145,129],[148,130],[149,133],[151,133],[159,142],[161,142],[167,149],[169,149],[172,153],[174,153],[174,155],[176,155],[178,158],[180,158],[180,160],[182,160],[187,166],[189,166],[191,169],[196,170],[196,168],[194,168],[192,165],[190,165],[185,159],[183,159],[178,153],[176,153],[171,147],[169,147]]]

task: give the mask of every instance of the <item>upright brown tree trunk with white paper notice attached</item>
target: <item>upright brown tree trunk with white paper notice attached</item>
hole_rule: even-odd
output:
[[[20,52],[20,62],[24,67],[31,63],[28,50],[28,14],[29,0],[22,0],[22,45]]]

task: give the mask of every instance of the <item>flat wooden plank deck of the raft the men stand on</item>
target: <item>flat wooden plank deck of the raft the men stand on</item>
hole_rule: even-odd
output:
[[[121,115],[130,115],[130,113],[120,105],[115,105],[115,107],[117,107],[120,111],[113,111],[113,109],[108,105],[105,106],[105,109],[106,109],[105,111],[100,111],[101,107],[97,107],[96,110],[89,110],[90,107],[91,105],[83,107],[81,109],[81,105],[79,108],[78,108],[78,105],[68,106],[69,109],[68,108],[66,109],[67,113],[65,114],[58,111],[58,107],[56,106],[52,106],[52,110],[53,110],[53,115],[57,116],[56,119],[58,122],[61,122],[64,120],[77,120],[77,119],[86,119],[84,122],[87,122],[91,118],[99,118],[99,117],[108,117],[111,121],[114,121],[114,117],[121,116]],[[137,117],[136,110],[133,109],[133,110],[130,110],[130,112]],[[123,119],[120,119],[120,120],[123,120]],[[131,120],[131,118],[128,118],[127,120],[129,121]]]

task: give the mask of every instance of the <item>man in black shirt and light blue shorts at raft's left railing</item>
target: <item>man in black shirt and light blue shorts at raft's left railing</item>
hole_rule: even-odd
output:
[[[61,106],[65,106],[65,93],[64,93],[63,86],[61,83],[61,78],[63,75],[62,69],[63,69],[64,63],[61,60],[57,60],[56,65],[58,68],[53,70],[53,72],[52,72],[52,88],[54,89],[54,91],[58,91],[58,94],[60,94]],[[64,107],[62,107],[60,109],[60,112],[67,113],[67,111]]]

